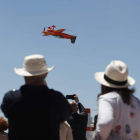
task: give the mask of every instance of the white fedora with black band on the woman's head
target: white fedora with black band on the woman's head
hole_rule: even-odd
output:
[[[100,84],[112,88],[125,88],[135,84],[135,80],[128,76],[127,65],[119,60],[111,61],[105,72],[96,72],[95,79]]]

